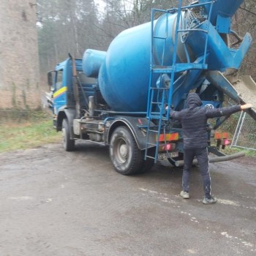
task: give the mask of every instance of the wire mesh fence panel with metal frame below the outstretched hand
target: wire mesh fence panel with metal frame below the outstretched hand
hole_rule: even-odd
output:
[[[238,119],[236,131],[231,143],[232,146],[256,150],[255,120],[243,111]]]

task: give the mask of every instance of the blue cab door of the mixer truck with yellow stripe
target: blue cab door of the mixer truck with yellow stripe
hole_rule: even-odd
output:
[[[57,70],[55,74],[53,102],[55,114],[59,112],[59,108],[67,105],[67,86],[64,84],[63,69]]]

